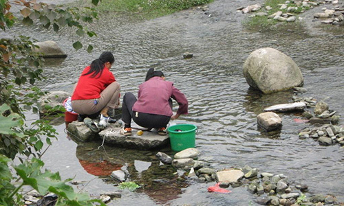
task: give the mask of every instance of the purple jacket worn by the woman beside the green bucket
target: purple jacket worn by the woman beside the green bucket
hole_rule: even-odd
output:
[[[169,106],[169,99],[173,98],[179,104],[177,113],[188,113],[188,100],[173,86],[173,82],[155,76],[140,84],[138,88],[138,101],[133,104],[133,111],[171,117],[173,112]]]

